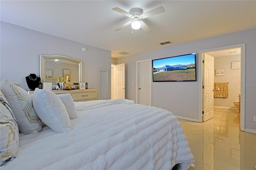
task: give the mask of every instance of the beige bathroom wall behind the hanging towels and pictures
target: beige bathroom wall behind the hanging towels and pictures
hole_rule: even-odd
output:
[[[228,98],[214,97],[214,106],[235,107],[233,101],[239,100],[241,69],[231,69],[234,61],[241,61],[241,56],[214,57],[214,83],[228,82]],[[224,69],[224,75],[216,76],[216,69]]]

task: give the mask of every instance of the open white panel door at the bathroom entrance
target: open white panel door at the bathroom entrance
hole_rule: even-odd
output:
[[[213,118],[214,57],[203,53],[203,122]]]

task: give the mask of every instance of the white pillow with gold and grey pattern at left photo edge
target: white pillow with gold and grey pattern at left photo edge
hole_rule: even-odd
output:
[[[16,158],[19,145],[19,128],[8,101],[0,91],[0,154],[1,166]]]

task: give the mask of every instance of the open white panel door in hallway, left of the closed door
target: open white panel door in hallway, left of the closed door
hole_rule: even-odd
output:
[[[114,65],[114,99],[125,99],[125,64]]]

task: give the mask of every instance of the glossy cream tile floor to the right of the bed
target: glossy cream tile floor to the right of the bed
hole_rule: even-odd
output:
[[[188,170],[254,170],[256,134],[239,129],[235,110],[214,109],[214,118],[195,123],[178,119],[194,155]]]

